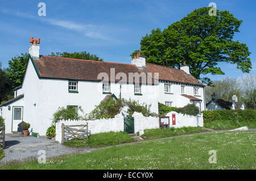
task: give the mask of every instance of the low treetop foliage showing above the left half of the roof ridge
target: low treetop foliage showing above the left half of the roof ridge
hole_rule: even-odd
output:
[[[99,58],[95,54],[90,54],[89,52],[87,53],[86,51],[84,52],[73,52],[73,53],[68,53],[68,52],[52,52],[49,56],[54,56],[54,57],[65,57],[65,58],[77,58],[77,59],[82,59],[82,60],[95,60],[95,61],[103,61],[102,58]]]

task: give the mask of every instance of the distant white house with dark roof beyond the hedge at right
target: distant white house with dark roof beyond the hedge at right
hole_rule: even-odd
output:
[[[232,100],[217,99],[217,95],[213,93],[212,100],[206,104],[207,110],[245,110],[245,103],[238,102],[236,94],[232,96]]]

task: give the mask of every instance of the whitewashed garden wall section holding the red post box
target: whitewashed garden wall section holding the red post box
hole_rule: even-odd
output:
[[[172,113],[175,113],[176,124],[172,125]],[[197,116],[183,115],[183,113],[177,113],[175,111],[168,112],[166,116],[170,117],[170,127],[203,127],[203,113]]]

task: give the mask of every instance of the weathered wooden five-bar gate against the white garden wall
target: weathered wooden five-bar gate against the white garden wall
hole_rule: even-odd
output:
[[[81,127],[76,128],[76,127]],[[86,128],[85,128],[86,127]],[[64,125],[61,124],[61,142],[72,141],[73,139],[82,139],[88,141],[88,123],[81,125]]]

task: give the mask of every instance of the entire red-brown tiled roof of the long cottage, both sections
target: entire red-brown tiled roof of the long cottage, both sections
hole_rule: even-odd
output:
[[[163,81],[173,81],[204,86],[201,82],[197,81],[195,77],[185,73],[183,70],[150,63],[147,63],[146,67],[143,67],[143,70],[138,69],[137,66],[132,64],[120,64],[52,56],[40,56],[40,60],[34,60],[34,62],[36,68],[38,69],[40,78],[102,81],[102,79],[98,79],[98,74],[107,73],[110,78],[110,69],[115,68],[115,75],[118,73],[125,73],[129,83],[135,82],[135,78],[129,81],[129,73],[152,73],[152,77],[154,77],[154,73],[159,73],[159,79]],[[120,79],[122,78],[120,77]],[[120,79],[115,79],[115,82],[119,82]],[[144,82],[142,82],[140,78],[139,82],[136,81],[135,83],[146,83],[146,81],[147,80],[144,80]],[[126,80],[123,82],[126,82]],[[157,83],[154,82],[154,80],[150,80],[150,82],[153,84]]]

